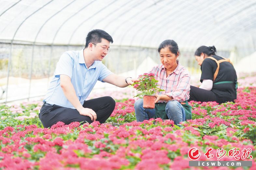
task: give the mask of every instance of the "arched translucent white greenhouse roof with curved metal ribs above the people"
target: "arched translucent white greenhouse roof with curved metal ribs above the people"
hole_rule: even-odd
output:
[[[0,41],[82,45],[92,29],[114,45],[255,48],[255,0],[0,0]]]

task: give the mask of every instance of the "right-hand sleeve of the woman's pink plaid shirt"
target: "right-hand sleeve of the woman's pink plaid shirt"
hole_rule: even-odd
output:
[[[172,100],[184,102],[189,99],[190,91],[190,74],[187,71],[181,72],[180,79],[176,90],[165,93],[167,96],[172,97]],[[169,101],[172,101],[169,100]]]

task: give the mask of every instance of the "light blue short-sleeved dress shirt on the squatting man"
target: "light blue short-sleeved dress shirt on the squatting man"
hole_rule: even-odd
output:
[[[66,51],[61,56],[43,102],[75,109],[67,100],[60,86],[61,74],[71,78],[71,83],[81,104],[84,103],[97,80],[102,81],[110,74],[113,74],[101,61],[94,61],[92,66],[87,68],[84,62],[83,50]]]

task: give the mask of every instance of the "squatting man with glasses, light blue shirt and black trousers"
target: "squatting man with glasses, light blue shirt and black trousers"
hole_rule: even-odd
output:
[[[54,77],[50,82],[39,118],[45,128],[61,121],[99,121],[104,123],[115,108],[115,101],[100,97],[85,101],[97,80],[118,87],[126,87],[137,79],[113,74],[102,64],[109,52],[112,37],[104,30],[92,30],[86,37],[85,48],[81,51],[67,51],[57,63]]]

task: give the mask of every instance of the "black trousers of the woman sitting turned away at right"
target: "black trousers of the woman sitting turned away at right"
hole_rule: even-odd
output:
[[[233,99],[219,97],[210,90],[200,89],[194,86],[190,86],[189,94],[190,94],[190,98],[188,101],[192,101],[192,100],[197,102],[215,101],[217,103],[234,102]]]

